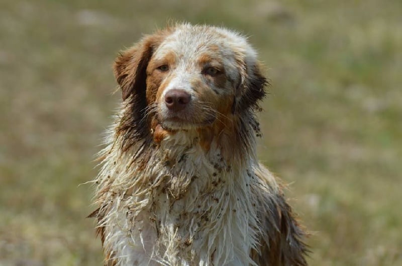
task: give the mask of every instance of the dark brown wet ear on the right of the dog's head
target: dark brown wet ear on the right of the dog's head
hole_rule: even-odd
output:
[[[261,65],[256,60],[238,59],[240,81],[236,88],[233,112],[259,109],[258,102],[266,95],[268,80],[261,73]]]

